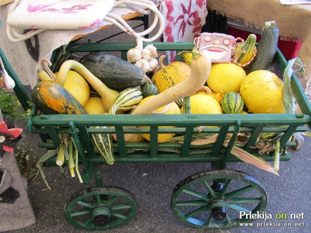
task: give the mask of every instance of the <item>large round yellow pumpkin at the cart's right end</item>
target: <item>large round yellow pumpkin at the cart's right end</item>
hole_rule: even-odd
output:
[[[244,104],[252,113],[284,113],[283,82],[275,73],[256,70],[241,84]]]

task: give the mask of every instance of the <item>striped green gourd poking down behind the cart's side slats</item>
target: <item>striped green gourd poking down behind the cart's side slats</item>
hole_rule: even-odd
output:
[[[90,126],[89,129],[105,129],[106,126]],[[109,133],[91,133],[93,147],[103,156],[107,164],[112,165],[115,158],[112,152],[112,136]]]

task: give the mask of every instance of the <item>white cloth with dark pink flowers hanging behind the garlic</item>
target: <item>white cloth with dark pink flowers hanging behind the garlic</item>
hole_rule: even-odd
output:
[[[165,20],[163,40],[193,41],[200,35],[207,17],[206,0],[160,0],[160,11]],[[175,53],[168,53],[169,61],[174,61]]]

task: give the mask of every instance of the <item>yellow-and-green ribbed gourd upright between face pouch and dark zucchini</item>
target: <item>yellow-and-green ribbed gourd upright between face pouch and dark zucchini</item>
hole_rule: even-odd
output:
[[[234,50],[232,54],[233,60],[240,64],[249,62],[255,52],[256,39],[255,34],[249,34],[247,39]]]

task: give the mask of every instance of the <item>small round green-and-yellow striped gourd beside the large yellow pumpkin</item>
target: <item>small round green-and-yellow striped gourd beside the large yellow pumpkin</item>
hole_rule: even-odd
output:
[[[224,113],[238,114],[243,111],[244,101],[240,94],[229,92],[223,97],[221,106]]]

